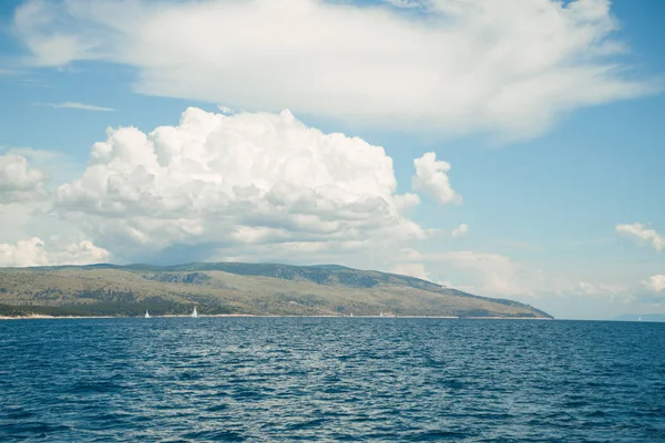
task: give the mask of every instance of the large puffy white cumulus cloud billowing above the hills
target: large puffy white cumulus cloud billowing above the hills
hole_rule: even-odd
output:
[[[95,243],[126,250],[178,244],[376,243],[427,235],[402,212],[383,148],[324,134],[294,115],[191,107],[178,126],[109,130],[57,210]]]

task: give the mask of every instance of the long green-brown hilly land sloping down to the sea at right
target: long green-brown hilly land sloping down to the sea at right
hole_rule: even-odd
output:
[[[195,262],[0,268],[0,316],[552,318],[518,301],[338,265]]]

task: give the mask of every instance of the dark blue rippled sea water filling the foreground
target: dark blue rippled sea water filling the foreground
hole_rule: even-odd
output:
[[[0,441],[665,442],[665,323],[0,321]]]

